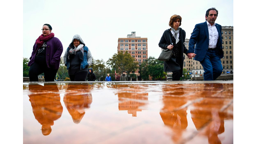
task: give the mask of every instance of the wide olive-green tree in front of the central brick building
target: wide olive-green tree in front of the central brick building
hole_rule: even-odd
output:
[[[122,71],[130,73],[139,68],[139,63],[134,60],[127,51],[125,53],[118,52],[108,59],[107,65],[114,70],[116,69],[116,73],[122,74]]]

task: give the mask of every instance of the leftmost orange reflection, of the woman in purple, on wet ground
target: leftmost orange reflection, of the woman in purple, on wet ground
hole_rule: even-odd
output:
[[[29,85],[29,91],[32,93],[28,96],[35,119],[42,125],[42,134],[49,135],[52,131],[51,126],[61,117],[63,111],[58,87],[56,84]]]

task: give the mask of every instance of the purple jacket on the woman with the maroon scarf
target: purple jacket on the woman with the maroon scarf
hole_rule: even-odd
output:
[[[38,46],[35,43],[33,46],[33,52],[28,66],[31,66],[35,62],[36,51],[38,50]],[[63,51],[63,46],[60,40],[56,37],[53,37],[47,41],[46,47],[46,63],[48,68],[59,69],[60,66],[60,56]]]

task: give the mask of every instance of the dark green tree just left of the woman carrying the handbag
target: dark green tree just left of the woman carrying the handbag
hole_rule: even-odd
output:
[[[164,78],[166,73],[164,73],[164,62],[156,59],[155,57],[149,56],[147,59],[148,72],[153,79]]]

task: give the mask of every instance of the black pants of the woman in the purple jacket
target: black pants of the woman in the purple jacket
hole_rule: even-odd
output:
[[[38,75],[44,73],[44,81],[54,81],[58,69],[48,68],[46,65],[41,65],[34,62],[29,68],[29,81],[38,81]]]

